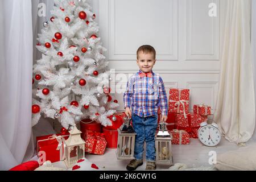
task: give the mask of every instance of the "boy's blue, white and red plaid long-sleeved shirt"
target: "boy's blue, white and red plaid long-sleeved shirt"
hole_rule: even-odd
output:
[[[124,106],[140,117],[157,115],[160,107],[162,115],[168,113],[168,100],[162,78],[152,72],[151,77],[141,77],[140,70],[129,78],[123,94]]]

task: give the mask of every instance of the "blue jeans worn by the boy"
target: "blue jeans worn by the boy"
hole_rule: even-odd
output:
[[[146,141],[146,161],[155,162],[155,131],[158,127],[158,115],[139,117],[132,114],[133,127],[136,132],[134,158],[143,159],[144,141]]]

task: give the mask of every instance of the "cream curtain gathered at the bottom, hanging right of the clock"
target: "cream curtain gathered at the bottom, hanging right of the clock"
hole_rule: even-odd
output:
[[[255,128],[250,0],[229,0],[214,120],[230,142],[245,144]]]

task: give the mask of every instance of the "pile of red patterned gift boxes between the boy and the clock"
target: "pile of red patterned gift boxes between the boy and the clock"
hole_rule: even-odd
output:
[[[189,113],[189,89],[171,88],[167,129],[172,135],[172,144],[189,144],[190,138],[198,138],[200,124],[208,115],[210,106],[203,104],[194,105],[193,113]]]

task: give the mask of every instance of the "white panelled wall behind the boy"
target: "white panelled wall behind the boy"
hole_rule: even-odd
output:
[[[217,16],[208,15],[216,3]],[[169,88],[191,89],[194,104],[216,104],[225,1],[219,0],[94,0],[100,37],[115,73],[138,71],[136,51],[142,44],[154,46],[154,72]],[[126,87],[126,80],[116,86]],[[116,93],[123,110],[123,94]]]

